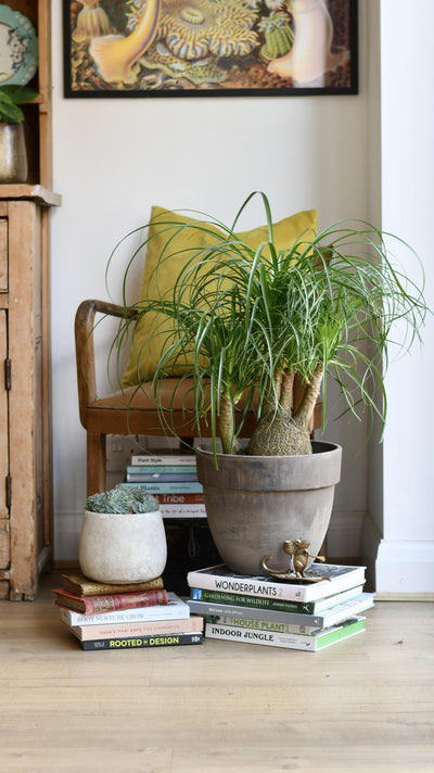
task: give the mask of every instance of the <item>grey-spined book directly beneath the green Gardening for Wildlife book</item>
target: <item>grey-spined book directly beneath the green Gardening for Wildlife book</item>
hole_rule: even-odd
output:
[[[193,599],[187,603],[192,613],[204,614],[206,618],[212,618],[213,622],[225,621],[225,623],[228,623],[228,620],[238,620],[244,621],[240,625],[245,625],[251,621],[252,628],[255,628],[256,624],[261,625],[264,629],[267,625],[297,625],[301,629],[310,626],[318,630],[337,625],[348,618],[370,609],[373,606],[373,594],[360,593],[355,598],[337,604],[320,614],[297,611],[285,612],[280,609],[273,610],[246,606],[238,607],[235,605],[213,604]],[[232,622],[232,624],[235,623]]]

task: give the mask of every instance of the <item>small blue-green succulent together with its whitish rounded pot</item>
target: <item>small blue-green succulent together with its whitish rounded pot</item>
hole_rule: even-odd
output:
[[[117,584],[145,582],[163,573],[166,560],[166,534],[154,496],[119,484],[88,497],[79,545],[86,576]]]

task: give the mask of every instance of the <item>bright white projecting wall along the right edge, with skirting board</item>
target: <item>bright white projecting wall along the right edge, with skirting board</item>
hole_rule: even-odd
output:
[[[382,227],[409,241],[423,259],[434,309],[432,212],[434,177],[434,23],[431,0],[382,0]],[[419,281],[408,261],[407,275]],[[387,376],[388,421],[383,443],[383,523],[376,588],[383,594],[434,591],[433,473],[434,318],[423,349]]]

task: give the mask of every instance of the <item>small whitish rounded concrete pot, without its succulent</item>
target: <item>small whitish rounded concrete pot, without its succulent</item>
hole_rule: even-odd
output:
[[[78,558],[82,573],[98,582],[123,584],[161,576],[167,560],[162,514],[85,510]]]

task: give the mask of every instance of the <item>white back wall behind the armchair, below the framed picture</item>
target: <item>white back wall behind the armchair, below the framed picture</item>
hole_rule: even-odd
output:
[[[54,189],[63,195],[52,217],[58,560],[77,556],[86,496],[73,337],[79,302],[106,297],[107,256],[118,239],[146,220],[153,203],[200,208],[230,220],[245,195],[260,189],[275,219],[310,207],[318,208],[321,227],[372,216],[369,143],[375,132],[369,97],[375,84],[372,74],[368,81],[368,10],[361,0],[358,96],[67,100],[61,3],[53,0]],[[375,180],[375,190],[379,185]],[[245,227],[257,225],[257,218],[252,212]],[[117,265],[111,277],[115,300],[122,269]],[[344,446],[331,549],[358,555],[368,496],[366,427],[330,423],[327,436]]]

